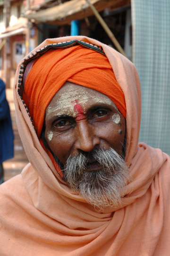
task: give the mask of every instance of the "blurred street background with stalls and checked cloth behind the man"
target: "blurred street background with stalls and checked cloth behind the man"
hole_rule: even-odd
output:
[[[0,79],[15,138],[14,158],[3,162],[4,180],[28,162],[15,120],[17,65],[46,38],[67,35],[97,39],[136,65],[142,90],[139,141],[170,154],[170,0],[0,0]]]

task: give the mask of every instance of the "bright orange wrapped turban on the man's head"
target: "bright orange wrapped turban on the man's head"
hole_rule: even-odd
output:
[[[101,53],[81,45],[51,49],[35,59],[33,65],[25,72],[23,100],[33,119],[38,138],[42,131],[46,107],[66,81],[107,95],[126,118],[124,94],[110,62]]]

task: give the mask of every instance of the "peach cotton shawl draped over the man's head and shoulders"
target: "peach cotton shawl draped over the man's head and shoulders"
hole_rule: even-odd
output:
[[[0,255],[168,256],[170,157],[138,144],[141,95],[136,68],[114,49],[85,36],[48,39],[26,59],[46,45],[70,40],[102,47],[109,59],[125,95],[126,160],[133,180],[121,204],[103,212],[69,190],[43,150],[18,95],[20,63],[14,98],[18,130],[30,163],[21,175],[0,185]]]

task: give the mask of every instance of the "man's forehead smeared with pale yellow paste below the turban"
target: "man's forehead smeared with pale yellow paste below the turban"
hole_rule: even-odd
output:
[[[88,111],[89,107],[98,105],[111,105],[117,109],[114,102],[103,93],[66,82],[51,99],[46,109],[46,115],[73,115],[76,117],[77,108],[75,106]]]

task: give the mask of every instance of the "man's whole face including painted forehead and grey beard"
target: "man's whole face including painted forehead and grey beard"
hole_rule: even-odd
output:
[[[126,124],[110,98],[66,82],[47,106],[45,126],[70,188],[99,209],[116,206],[128,178],[121,157]]]

